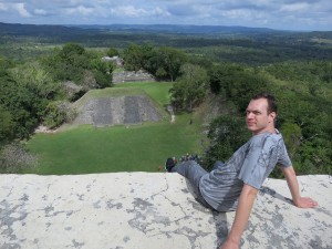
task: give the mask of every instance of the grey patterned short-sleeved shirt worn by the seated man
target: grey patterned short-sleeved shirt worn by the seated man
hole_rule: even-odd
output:
[[[200,178],[200,193],[216,210],[235,210],[243,184],[259,189],[277,164],[291,166],[281,134],[258,134],[228,162]]]

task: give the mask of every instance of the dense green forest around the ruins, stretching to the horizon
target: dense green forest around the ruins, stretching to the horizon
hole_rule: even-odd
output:
[[[117,69],[101,58],[118,55],[126,70],[174,82],[178,112],[218,96],[226,107],[209,127],[207,168],[248,138],[248,100],[270,92],[298,173],[332,174],[332,32],[125,28],[0,23],[0,167],[27,164],[8,156],[24,154],[19,141],[40,124],[53,128],[73,120],[69,104],[89,90],[112,87]]]

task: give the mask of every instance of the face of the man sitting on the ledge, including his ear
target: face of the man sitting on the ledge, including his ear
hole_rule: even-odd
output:
[[[268,101],[266,98],[251,100],[247,107],[246,123],[252,135],[263,132],[274,133],[276,113],[268,114]]]

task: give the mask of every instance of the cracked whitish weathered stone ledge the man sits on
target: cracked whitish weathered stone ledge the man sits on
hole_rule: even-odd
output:
[[[332,248],[332,178],[299,177],[300,209],[267,179],[241,248]],[[218,248],[235,212],[203,208],[178,174],[0,175],[0,248]]]

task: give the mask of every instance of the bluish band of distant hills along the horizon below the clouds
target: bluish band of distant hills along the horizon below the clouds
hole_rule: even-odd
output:
[[[20,24],[0,22],[0,34],[7,35],[33,35],[33,37],[75,37],[75,35],[105,35],[107,33],[167,33],[193,35],[309,35],[331,39],[332,32],[297,32],[282,31],[268,28],[248,28],[238,25],[180,25],[180,24],[77,24],[77,25],[45,25]]]

